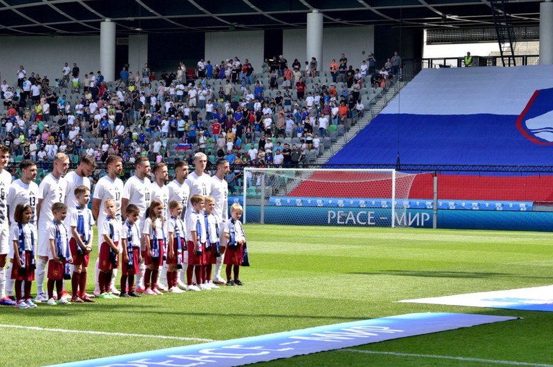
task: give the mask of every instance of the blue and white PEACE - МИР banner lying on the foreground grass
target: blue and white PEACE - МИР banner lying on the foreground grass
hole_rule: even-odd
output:
[[[457,313],[412,313],[303,330],[59,364],[57,367],[244,366],[516,319]]]

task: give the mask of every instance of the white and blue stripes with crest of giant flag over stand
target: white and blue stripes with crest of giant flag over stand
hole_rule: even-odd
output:
[[[399,143],[398,143],[399,141]],[[329,164],[553,164],[553,66],[422,70]]]

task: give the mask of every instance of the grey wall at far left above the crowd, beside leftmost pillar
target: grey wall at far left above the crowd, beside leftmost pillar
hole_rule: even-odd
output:
[[[17,86],[16,72],[23,65],[30,77],[31,72],[48,75],[50,83],[62,77],[64,63],[73,68],[73,63],[84,73],[100,68],[100,37],[2,37],[0,39],[0,77],[10,86]]]

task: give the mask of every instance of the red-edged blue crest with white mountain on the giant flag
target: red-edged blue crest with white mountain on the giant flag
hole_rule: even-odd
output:
[[[553,144],[553,88],[536,90],[518,119],[516,127],[532,143]]]

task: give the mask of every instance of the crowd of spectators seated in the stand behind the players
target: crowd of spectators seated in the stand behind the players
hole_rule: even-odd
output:
[[[73,163],[85,153],[99,163],[119,155],[129,163],[125,177],[138,157],[193,164],[194,152],[210,163],[225,157],[231,166],[292,167],[310,151],[318,155],[336,126],[362,116],[365,83],[385,87],[401,66],[397,52],[378,71],[372,52],[355,70],[341,54],[328,71],[315,58],[302,67],[280,55],[257,72],[248,59],[234,57],[215,65],[200,59],[193,72],[180,63],[159,79],[148,64],[134,75],[123,67],[115,82],[100,71],[82,73],[76,63],[65,63],[53,81],[20,66],[17,84],[0,86],[0,137],[10,161],[36,161],[41,176],[57,152]],[[95,179],[102,175],[98,169]]]

